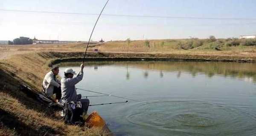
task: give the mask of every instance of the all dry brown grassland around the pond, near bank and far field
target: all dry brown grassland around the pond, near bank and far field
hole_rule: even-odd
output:
[[[180,46],[187,40],[113,41],[90,45],[90,58],[171,58],[217,61],[256,62],[256,46],[225,46],[204,41],[187,49]],[[222,42],[221,42],[222,41]],[[223,44],[222,44],[223,43]],[[67,135],[102,136],[99,130],[64,125],[55,111],[29,98],[18,87],[20,83],[41,90],[41,82],[56,60],[82,58],[86,44],[0,45],[0,135]],[[216,50],[218,47],[218,50]],[[94,52],[98,49],[99,52]],[[100,114],[100,113],[99,113]]]

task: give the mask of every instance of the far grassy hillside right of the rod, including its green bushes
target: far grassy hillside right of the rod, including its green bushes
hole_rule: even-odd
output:
[[[167,39],[106,42],[100,51],[161,54],[255,55],[256,39]]]

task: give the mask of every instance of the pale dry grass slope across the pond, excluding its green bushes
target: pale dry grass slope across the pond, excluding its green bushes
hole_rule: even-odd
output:
[[[145,45],[145,40],[131,41],[114,41],[106,42],[98,48],[99,51],[107,52],[130,52],[130,53],[154,53],[154,54],[190,54],[190,55],[240,55],[240,56],[256,56],[256,46],[236,46],[226,47],[223,45],[220,47],[221,51],[217,51],[214,48],[210,48],[211,44],[215,42],[205,42],[204,45],[197,48],[183,50],[180,48],[179,42],[186,42],[189,39],[178,40],[148,40],[149,46]],[[92,49],[94,49],[92,48]]]

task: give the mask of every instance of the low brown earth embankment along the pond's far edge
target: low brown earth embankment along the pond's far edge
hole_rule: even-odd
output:
[[[84,52],[50,52],[56,59],[49,65],[59,62],[82,61]],[[191,55],[191,54],[145,54],[90,52],[85,61],[214,61],[214,62],[256,62],[256,57],[229,55]]]

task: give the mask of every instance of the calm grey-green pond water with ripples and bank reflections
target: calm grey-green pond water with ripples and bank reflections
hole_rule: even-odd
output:
[[[61,63],[60,75],[79,63]],[[86,62],[76,85],[116,136],[255,136],[256,64]],[[101,95],[77,90],[82,96]]]

